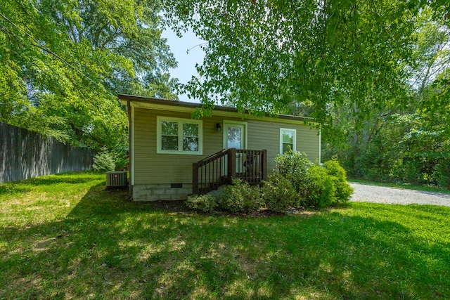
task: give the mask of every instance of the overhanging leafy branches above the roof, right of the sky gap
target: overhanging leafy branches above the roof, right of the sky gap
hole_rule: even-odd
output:
[[[344,99],[359,114],[405,100],[417,15],[431,5],[448,18],[446,2],[168,0],[165,9],[169,25],[207,41],[200,77],[184,87],[191,96],[253,113],[311,102],[323,121]]]

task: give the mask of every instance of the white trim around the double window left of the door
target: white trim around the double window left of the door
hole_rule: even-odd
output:
[[[178,149],[179,150],[162,150],[161,145],[161,122],[178,122]],[[183,123],[198,124],[198,151],[183,150]],[[181,137],[181,138],[180,138]],[[184,119],[174,117],[156,117],[156,153],[159,154],[178,154],[178,155],[203,155],[203,121],[197,119]]]

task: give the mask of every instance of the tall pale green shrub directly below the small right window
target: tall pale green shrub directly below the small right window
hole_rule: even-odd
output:
[[[306,154],[289,149],[285,154],[275,157],[274,174],[287,178],[293,183],[295,190],[300,191],[304,190],[305,177],[312,165]]]

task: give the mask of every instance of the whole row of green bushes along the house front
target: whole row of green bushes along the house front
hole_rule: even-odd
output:
[[[186,204],[191,209],[212,211],[214,208],[233,213],[250,213],[262,207],[285,212],[292,207],[323,208],[345,203],[353,193],[345,170],[336,159],[323,167],[310,162],[306,155],[290,150],[275,159],[274,173],[262,188],[234,180],[219,200],[212,195],[193,195]]]

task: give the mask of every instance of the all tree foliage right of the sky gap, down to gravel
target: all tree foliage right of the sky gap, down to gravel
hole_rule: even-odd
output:
[[[308,114],[350,176],[450,188],[449,0],[167,0],[208,108]]]

